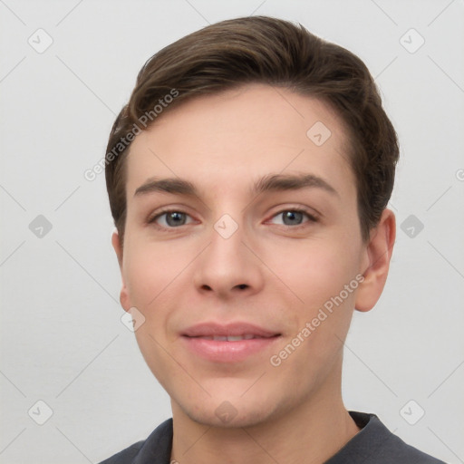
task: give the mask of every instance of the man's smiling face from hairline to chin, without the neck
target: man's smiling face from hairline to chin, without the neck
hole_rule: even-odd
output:
[[[121,304],[173,411],[249,426],[340,390],[369,263],[346,140],[323,102],[248,85],[132,142]]]

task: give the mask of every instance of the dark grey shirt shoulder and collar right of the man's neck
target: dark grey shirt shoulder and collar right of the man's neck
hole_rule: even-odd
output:
[[[391,433],[375,414],[350,411],[362,430],[326,464],[445,464]]]

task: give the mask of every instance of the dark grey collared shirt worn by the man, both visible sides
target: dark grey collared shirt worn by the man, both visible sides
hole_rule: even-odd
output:
[[[362,428],[324,464],[445,464],[393,435],[375,414],[350,411]],[[134,443],[100,464],[169,464],[172,418],[153,430],[147,440]]]

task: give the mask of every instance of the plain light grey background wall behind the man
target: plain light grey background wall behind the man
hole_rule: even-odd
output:
[[[354,316],[344,400],[376,412],[411,445],[464,462],[458,0],[0,0],[0,462],[98,462],[170,417],[167,393],[121,323],[104,174],[91,182],[83,172],[102,159],[115,115],[153,53],[247,14],[299,21],[342,44],[382,90],[401,140],[391,198],[398,237],[379,304]],[[53,43],[38,53],[47,36]],[[39,215],[50,231],[39,223],[31,230]],[[39,425],[47,408],[53,415]]]

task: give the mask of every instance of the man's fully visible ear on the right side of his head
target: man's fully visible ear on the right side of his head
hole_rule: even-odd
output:
[[[364,280],[358,287],[355,309],[369,311],[382,295],[396,237],[395,215],[385,208],[379,225],[372,229],[362,263]]]

